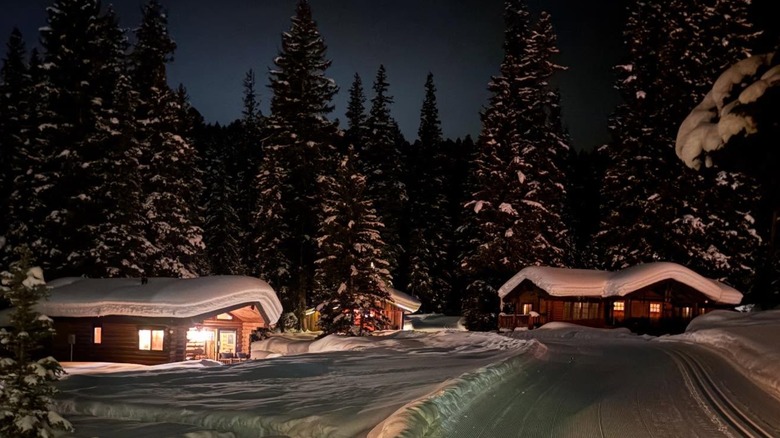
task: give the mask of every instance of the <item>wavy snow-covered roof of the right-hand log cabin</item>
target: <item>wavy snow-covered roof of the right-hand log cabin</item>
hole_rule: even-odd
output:
[[[498,296],[504,298],[525,280],[556,297],[604,298],[626,296],[660,281],[675,280],[719,303],[742,301],[742,293],[736,289],[670,262],[645,263],[617,272],[529,266],[504,283]]]

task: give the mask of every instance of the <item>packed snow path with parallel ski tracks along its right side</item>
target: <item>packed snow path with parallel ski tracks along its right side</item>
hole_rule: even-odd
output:
[[[435,436],[780,436],[780,400],[702,347],[544,343],[547,355],[474,399]]]

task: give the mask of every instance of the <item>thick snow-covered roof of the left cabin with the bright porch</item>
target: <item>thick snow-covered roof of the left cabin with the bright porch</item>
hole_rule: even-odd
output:
[[[189,318],[243,305],[258,305],[269,324],[282,304],[263,280],[224,275],[198,278],[60,278],[48,283],[49,299],[36,310],[50,317],[108,315]]]

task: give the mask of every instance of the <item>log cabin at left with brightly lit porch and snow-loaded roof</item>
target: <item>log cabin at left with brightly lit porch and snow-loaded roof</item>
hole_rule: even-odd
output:
[[[245,276],[62,278],[36,310],[54,321],[59,361],[156,365],[248,358],[250,334],[282,313],[268,283]]]

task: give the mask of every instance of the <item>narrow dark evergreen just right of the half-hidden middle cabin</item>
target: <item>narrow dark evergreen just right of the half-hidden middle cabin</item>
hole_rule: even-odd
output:
[[[452,290],[450,251],[452,217],[447,188],[449,162],[441,133],[433,74],[425,81],[420,110],[419,141],[409,157],[409,284],[407,291],[422,302],[423,312],[441,313]]]

